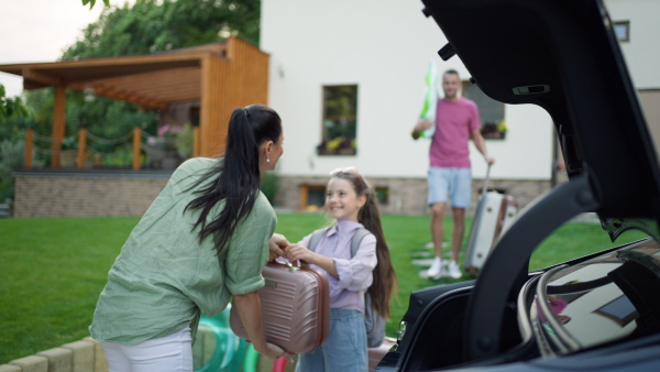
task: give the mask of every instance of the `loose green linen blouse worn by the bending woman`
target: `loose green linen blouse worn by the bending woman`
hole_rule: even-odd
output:
[[[200,244],[198,229],[190,231],[199,212],[184,214],[195,198],[186,189],[219,161],[197,157],[182,164],[133,229],[99,296],[89,327],[95,340],[135,344],[186,326],[195,339],[200,310],[215,316],[232,295],[264,286],[262,269],[277,217],[261,192],[220,256],[211,237]],[[221,208],[223,203],[209,220]]]

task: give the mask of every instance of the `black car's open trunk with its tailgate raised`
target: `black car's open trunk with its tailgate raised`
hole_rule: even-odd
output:
[[[408,329],[382,370],[536,358],[517,317],[518,307],[532,302],[524,286],[539,275],[528,266],[542,240],[587,211],[597,212],[613,240],[630,227],[658,238],[660,172],[651,136],[600,0],[422,2],[449,41],[439,51],[443,59],[461,58],[491,98],[550,113],[570,182],[519,214],[475,282],[414,293],[404,317]]]

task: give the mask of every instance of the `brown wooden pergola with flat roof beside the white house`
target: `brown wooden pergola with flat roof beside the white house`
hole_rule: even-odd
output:
[[[53,152],[65,135],[66,89],[133,102],[146,110],[199,100],[196,156],[223,151],[231,111],[267,105],[268,55],[237,37],[163,53],[53,63],[0,65],[0,72],[23,77],[23,88],[53,87]],[[53,166],[59,166],[54,160]]]

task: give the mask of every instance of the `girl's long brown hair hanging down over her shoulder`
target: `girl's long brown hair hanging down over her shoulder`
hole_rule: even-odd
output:
[[[374,281],[367,291],[374,309],[387,319],[389,318],[389,302],[397,287],[397,278],[392,265],[389,248],[385,241],[385,234],[383,234],[378,200],[374,189],[356,169],[340,171],[333,173],[332,177],[346,179],[353,186],[358,196],[366,196],[366,203],[358,212],[358,222],[362,223],[376,237],[376,258],[378,259],[378,263],[373,271]]]

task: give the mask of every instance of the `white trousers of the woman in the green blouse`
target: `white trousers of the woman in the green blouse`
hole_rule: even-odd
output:
[[[166,337],[125,346],[101,342],[109,372],[193,372],[190,328]]]

